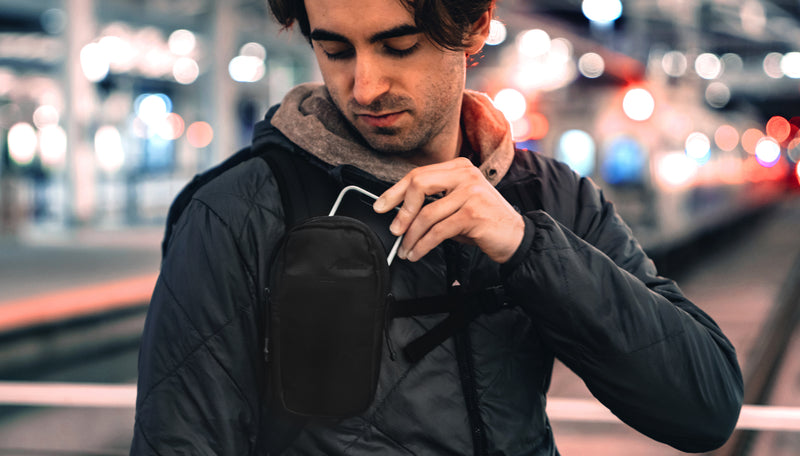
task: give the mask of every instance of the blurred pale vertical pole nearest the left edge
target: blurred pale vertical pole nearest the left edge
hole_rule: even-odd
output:
[[[95,161],[89,127],[96,94],[81,69],[81,49],[95,38],[94,0],[64,0],[67,12],[67,55],[64,59],[65,125],[67,130],[65,222],[83,225],[94,214]]]

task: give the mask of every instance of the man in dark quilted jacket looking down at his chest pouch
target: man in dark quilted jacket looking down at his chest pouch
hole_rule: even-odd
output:
[[[502,284],[514,305],[416,362],[385,347],[368,410],[275,437],[285,423],[266,387],[265,289],[284,209],[266,163],[247,160],[203,186],[172,227],[141,347],[132,454],[266,454],[286,438],[284,454],[555,455],[544,411],[554,357],[654,439],[697,452],[725,442],[742,399],[731,344],[657,276],[591,181],[515,151],[502,114],[464,90],[493,1],[270,5],[309,38],[324,85],[292,90],[253,148],[289,147],[331,178],[356,167],[394,183],[374,208],[400,206],[398,299]],[[386,343],[441,319],[395,318]]]

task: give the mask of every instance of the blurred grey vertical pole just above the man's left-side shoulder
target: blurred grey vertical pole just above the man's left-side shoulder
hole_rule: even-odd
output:
[[[235,143],[237,91],[233,79],[228,75],[228,64],[234,56],[239,39],[236,27],[236,3],[227,0],[215,2],[214,23],[211,39],[214,43],[211,87],[211,112],[213,116],[214,141],[211,143],[211,163],[233,154]]]

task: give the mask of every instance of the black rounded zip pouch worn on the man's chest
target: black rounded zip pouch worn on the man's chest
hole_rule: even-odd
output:
[[[308,417],[366,410],[390,299],[389,264],[375,232],[351,217],[310,218],[287,232],[270,284],[273,397]]]

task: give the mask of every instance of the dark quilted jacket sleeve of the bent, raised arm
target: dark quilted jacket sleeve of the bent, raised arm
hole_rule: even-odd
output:
[[[588,179],[575,185],[558,204],[577,207],[560,222],[526,215],[523,244],[503,268],[512,299],[622,421],[682,451],[721,446],[742,403],[733,346],[657,275],[601,191]]]

